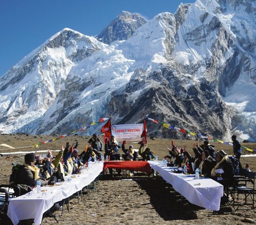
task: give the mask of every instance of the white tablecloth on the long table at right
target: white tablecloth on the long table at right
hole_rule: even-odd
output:
[[[163,167],[162,162],[148,161],[151,168],[159,173],[165,181],[194,205],[208,210],[220,210],[220,199],[223,196],[223,185],[218,182],[200,178],[195,180],[195,175],[172,172],[174,167]]]

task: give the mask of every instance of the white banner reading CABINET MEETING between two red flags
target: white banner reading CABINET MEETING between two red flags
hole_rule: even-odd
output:
[[[143,124],[112,125],[112,135],[117,141],[141,141]]]

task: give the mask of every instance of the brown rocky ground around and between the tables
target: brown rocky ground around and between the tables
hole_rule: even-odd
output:
[[[47,141],[54,137],[27,136],[27,135],[0,135],[0,144],[6,143],[13,147],[33,146],[39,141]],[[89,137],[72,136],[59,141],[42,145],[39,150],[60,149],[65,142],[79,141],[79,150],[82,151]],[[200,142],[201,144],[202,142]],[[130,143],[127,143],[129,145]],[[175,140],[177,146],[186,145],[191,150],[193,141]],[[134,148],[139,145],[133,143]],[[170,147],[171,141],[167,139],[149,140],[148,146],[155,155],[162,159],[168,152],[166,145]],[[232,146],[213,143],[216,150],[225,149],[230,154]],[[245,143],[246,147],[255,149],[255,143]],[[2,147],[3,148],[3,147]],[[30,151],[34,148],[20,148],[19,151]],[[15,151],[18,151],[15,150]],[[14,150],[1,150],[1,152],[14,152]],[[243,151],[243,154],[250,152]],[[55,154],[53,154],[55,155]],[[9,154],[0,157],[1,183],[9,181],[11,163],[23,162],[23,155]],[[255,157],[241,158],[242,165],[249,163],[251,169],[256,169]],[[242,199],[241,199],[242,200]],[[82,201],[77,197],[71,199],[71,209],[67,211],[64,206],[64,215],[61,211],[55,211],[59,224],[246,224],[254,223],[256,210],[251,207],[240,207],[234,210],[231,206],[222,206],[218,214],[205,210],[191,203],[181,201],[181,197],[171,189],[160,177],[153,179],[144,173],[137,173],[134,177],[114,177],[109,175],[100,177],[96,190],[90,192],[90,196],[84,192]],[[27,221],[26,223],[30,223]],[[46,217],[42,224],[53,224],[55,220]],[[0,220],[0,224],[11,224],[8,218]]]

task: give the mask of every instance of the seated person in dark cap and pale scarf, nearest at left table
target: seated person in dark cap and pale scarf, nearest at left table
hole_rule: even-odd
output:
[[[35,154],[28,153],[24,156],[24,164],[20,168],[19,176],[16,184],[26,184],[28,186],[36,186],[36,181],[41,181],[41,186],[47,185],[48,181],[40,179],[40,169],[35,166]]]

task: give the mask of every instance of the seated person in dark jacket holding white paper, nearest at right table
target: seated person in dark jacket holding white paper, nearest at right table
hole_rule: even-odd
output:
[[[224,150],[220,150],[216,154],[217,164],[211,171],[212,179],[217,180],[224,188],[233,184],[234,167],[228,159],[228,154]],[[218,171],[216,171],[218,169]]]

